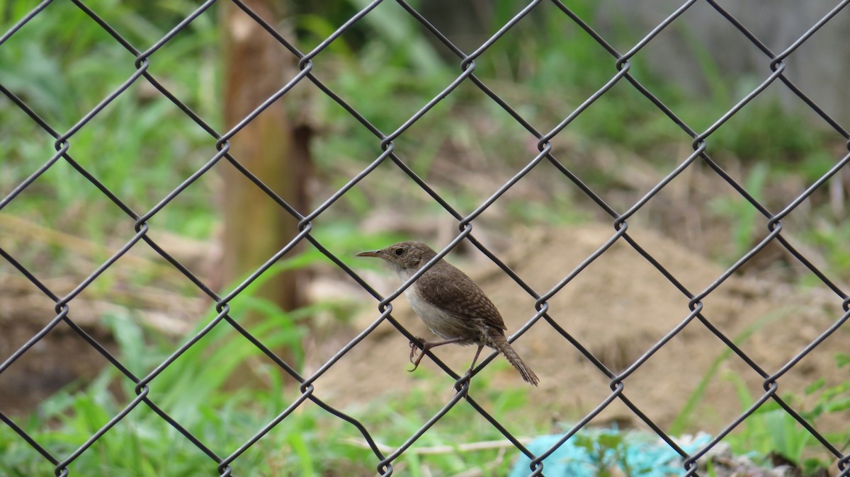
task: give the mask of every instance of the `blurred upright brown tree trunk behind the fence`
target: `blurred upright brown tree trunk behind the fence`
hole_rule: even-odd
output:
[[[282,16],[271,0],[248,0],[246,4],[271,25],[276,25],[276,20]],[[292,54],[241,9],[229,2],[223,3],[221,8],[224,121],[229,130],[283,87],[297,70]],[[300,132],[302,128],[294,127],[286,115],[286,98],[289,97],[284,96],[271,104],[237,132],[230,139],[230,154],[287,203],[303,211],[309,159],[304,133]],[[221,164],[224,166],[222,283],[229,287],[286,246],[297,234],[297,219],[235,167],[225,164],[224,160]],[[286,311],[302,305],[297,291],[297,272],[276,274],[252,295],[270,300]],[[252,324],[264,318],[245,310],[234,310],[234,317],[249,330]],[[291,351],[274,351],[292,363]]]

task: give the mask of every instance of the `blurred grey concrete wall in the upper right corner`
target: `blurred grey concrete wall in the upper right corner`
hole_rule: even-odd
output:
[[[594,28],[610,38],[621,52],[672,14],[682,0],[603,0]],[[774,54],[824,17],[838,0],[725,0],[718,2]],[[832,115],[850,127],[847,79],[850,77],[850,7],[844,8],[786,60],[785,76]],[[704,58],[717,67],[719,77],[735,99],[770,75],[770,59],[717,10],[703,1],[694,3],[662,31],[636,61],[645,61],[656,75],[667,77],[694,93],[707,93]],[[707,53],[707,55],[705,55]],[[702,65],[706,62],[703,61]],[[785,85],[777,82],[768,93],[791,108],[808,109]]]

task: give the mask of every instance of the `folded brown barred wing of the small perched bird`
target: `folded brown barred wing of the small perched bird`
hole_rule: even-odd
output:
[[[507,329],[496,305],[484,295],[484,291],[472,278],[452,268],[449,276],[445,273],[431,273],[430,270],[425,272],[419,278],[421,286],[418,291],[422,298],[460,319],[480,320],[494,328]],[[469,293],[470,289],[478,293]]]

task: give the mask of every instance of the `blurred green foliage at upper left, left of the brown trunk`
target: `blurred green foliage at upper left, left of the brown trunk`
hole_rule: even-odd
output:
[[[150,48],[196,7],[186,0],[141,5],[95,0],[87,4],[140,51]],[[31,7],[23,2],[8,3],[3,29]],[[215,100],[217,48],[215,16],[207,14],[150,58],[150,73],[213,126],[221,122]],[[0,65],[4,65],[0,82],[62,134],[133,74],[133,62],[133,53],[77,6],[56,2],[0,48]],[[0,190],[8,193],[54,154],[54,139],[7,98],[0,98],[0,103]],[[139,214],[215,154],[214,139],[144,78],[106,106],[69,143],[71,156]],[[177,233],[209,237],[215,224],[209,205],[211,187],[190,187],[157,215],[156,221]],[[69,209],[80,209],[85,210],[87,221],[74,222],[72,227],[82,227],[83,222],[107,232],[115,227],[105,220],[114,220],[108,200],[65,160],[59,160],[20,197],[14,206],[26,207],[45,222],[56,222]]]

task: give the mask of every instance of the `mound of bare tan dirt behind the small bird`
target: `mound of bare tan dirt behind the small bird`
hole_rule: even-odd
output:
[[[669,239],[645,231],[631,233],[694,295],[723,273],[722,267]],[[515,249],[502,258],[532,289],[543,294],[613,234],[611,228],[592,225],[550,230],[520,237]],[[514,333],[535,316],[535,300],[484,255],[473,255],[479,256],[469,262],[449,256],[490,295],[505,317],[508,333]],[[385,294],[399,284],[391,272],[367,276],[372,283],[379,283],[378,290]],[[689,299],[623,240],[567,283],[548,304],[553,321],[613,373],[631,366],[690,313]],[[768,374],[776,373],[843,314],[841,300],[829,290],[792,288],[758,276],[737,274],[720,284],[702,304],[702,316],[711,326],[738,343]],[[433,338],[413,315],[405,298],[394,301],[394,307],[394,317],[405,327],[426,339]],[[313,367],[377,317],[376,308],[367,309],[346,331],[327,340],[325,346],[318,345],[319,352],[312,356]],[[520,418],[575,422],[611,392],[610,379],[545,320],[532,326],[514,347],[541,378],[540,387],[530,390],[531,405],[524,408]],[[839,351],[847,351],[846,327],[779,379],[779,395],[791,393],[802,398],[806,386],[816,379],[826,379],[827,385],[846,380],[846,371],[842,375],[834,361]],[[382,323],[317,381],[317,393],[335,405],[346,406],[418,389],[432,393],[435,406],[445,404],[451,396],[452,379],[428,358],[416,373],[407,373],[411,367],[408,353],[404,336],[392,325]],[[462,373],[474,349],[445,346],[435,353]],[[527,385],[501,356],[479,376],[487,386],[500,390]],[[704,323],[694,319],[625,379],[623,394],[655,424],[669,429],[705,379],[705,394],[694,400],[687,429],[713,434],[750,404],[742,401],[740,386],[736,388],[735,384],[740,380],[734,376],[743,379],[752,399],[762,396],[762,377],[744,359],[728,352],[728,346]],[[473,397],[476,391],[473,380]],[[478,391],[479,396],[484,394],[480,388]],[[794,398],[791,402],[808,409],[815,398]],[[844,430],[847,418],[846,413],[833,415],[820,419],[816,427],[825,432]],[[605,407],[593,423],[611,421],[620,426],[645,425],[621,400]]]

